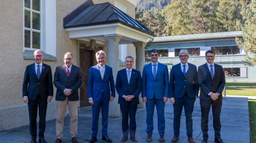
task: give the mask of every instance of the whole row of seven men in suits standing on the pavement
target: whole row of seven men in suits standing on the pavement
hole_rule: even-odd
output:
[[[194,103],[200,91],[201,106],[201,129],[203,132],[202,143],[208,140],[208,115],[210,106],[214,117],[215,142],[223,143],[220,136],[220,113],[222,106],[222,91],[225,85],[225,77],[222,66],[214,63],[215,53],[208,50],[205,53],[207,63],[197,67],[188,63],[188,50],[179,52],[180,63],[174,65],[168,74],[167,66],[158,62],[159,51],[150,51],[151,60],[143,68],[142,77],[140,71],[133,69],[134,59],[132,56],[125,58],[125,69],[118,71],[116,84],[112,68],[105,65],[106,53],[103,50],[96,52],[97,65],[89,70],[88,98],[92,105],[92,138],[90,143],[97,141],[98,120],[101,109],[102,116],[102,140],[112,142],[108,136],[109,102],[115,98],[115,89],[118,93],[118,103],[122,113],[121,142],[130,139],[137,142],[136,111],[141,92],[142,101],[146,104],[146,141],[152,141],[153,116],[156,106],[158,117],[159,141],[163,142],[165,131],[164,108],[165,102],[170,98],[174,107],[174,137],[172,142],[179,140],[180,118],[184,106],[186,117],[186,134],[190,143],[193,138],[192,113]],[[45,118],[47,103],[53,96],[51,67],[42,64],[42,52],[34,52],[35,63],[28,65],[25,71],[23,83],[23,100],[28,103],[31,143],[36,142],[36,117],[39,108],[39,142],[47,142],[44,139]],[[57,88],[56,106],[56,136],[55,143],[60,143],[63,136],[63,117],[68,105],[70,112],[70,133],[72,142],[78,142],[77,136],[77,109],[78,89],[82,82],[80,68],[73,65],[73,55],[67,52],[64,57],[65,65],[56,68],[54,73],[54,85]],[[130,123],[129,123],[130,119]]]

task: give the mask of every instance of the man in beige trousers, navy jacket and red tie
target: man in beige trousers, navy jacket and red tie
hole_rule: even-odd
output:
[[[63,136],[63,118],[67,105],[70,113],[70,134],[73,143],[78,143],[77,136],[77,112],[78,112],[78,89],[82,84],[82,73],[79,67],[73,65],[73,55],[67,52],[64,55],[65,65],[56,67],[54,73],[54,85],[56,91],[56,136],[55,143],[60,143]]]

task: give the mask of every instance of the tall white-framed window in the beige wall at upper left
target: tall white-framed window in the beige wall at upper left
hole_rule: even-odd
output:
[[[24,47],[41,49],[40,0],[24,0]]]

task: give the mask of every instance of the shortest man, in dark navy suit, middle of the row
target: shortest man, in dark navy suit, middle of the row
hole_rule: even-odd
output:
[[[139,94],[141,92],[141,75],[140,71],[133,69],[133,57],[126,56],[125,69],[118,71],[116,77],[116,91],[119,95],[118,103],[122,112],[122,131],[123,138],[121,142],[130,139],[137,142],[136,132],[136,111],[139,104]],[[130,128],[128,118],[130,117]]]

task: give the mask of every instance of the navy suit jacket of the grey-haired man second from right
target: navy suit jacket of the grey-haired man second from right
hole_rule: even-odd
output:
[[[197,67],[188,63],[188,69],[184,76],[180,63],[174,65],[170,71],[169,97],[182,98],[185,91],[190,98],[198,96],[199,86],[197,79]]]

